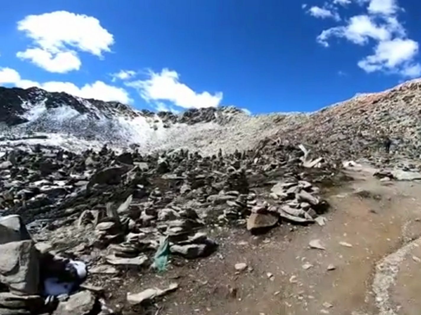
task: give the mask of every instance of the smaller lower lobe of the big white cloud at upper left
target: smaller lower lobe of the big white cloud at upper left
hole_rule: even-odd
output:
[[[51,53],[41,48],[30,48],[26,51],[19,51],[16,56],[20,59],[27,59],[49,72],[65,73],[79,70],[81,65],[75,51]]]

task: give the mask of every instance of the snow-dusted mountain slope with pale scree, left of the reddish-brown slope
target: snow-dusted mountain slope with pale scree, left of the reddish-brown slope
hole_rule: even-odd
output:
[[[184,147],[213,154],[219,147],[227,152],[253,147],[277,131],[280,116],[251,117],[234,107],[174,115],[40,88],[0,87],[0,150],[42,144],[81,151],[107,143],[142,152]]]

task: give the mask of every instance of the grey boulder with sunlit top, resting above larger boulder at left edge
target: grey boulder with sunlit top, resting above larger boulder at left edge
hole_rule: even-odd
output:
[[[12,214],[0,217],[0,244],[30,239],[31,236],[20,216]]]

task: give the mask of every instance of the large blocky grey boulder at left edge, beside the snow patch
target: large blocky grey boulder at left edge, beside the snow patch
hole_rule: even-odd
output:
[[[39,252],[32,240],[0,245],[0,282],[18,295],[38,293]]]

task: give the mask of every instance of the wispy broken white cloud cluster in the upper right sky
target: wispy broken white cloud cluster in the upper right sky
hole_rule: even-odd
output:
[[[404,77],[421,75],[421,65],[415,61],[418,43],[407,37],[397,19],[397,12],[402,10],[397,0],[333,0],[332,3],[333,7],[350,3],[366,5],[368,13],[352,16],[345,25],[323,30],[317,36],[318,43],[328,47],[331,37],[345,38],[357,45],[374,43],[374,53],[357,63],[365,72],[383,71]]]

